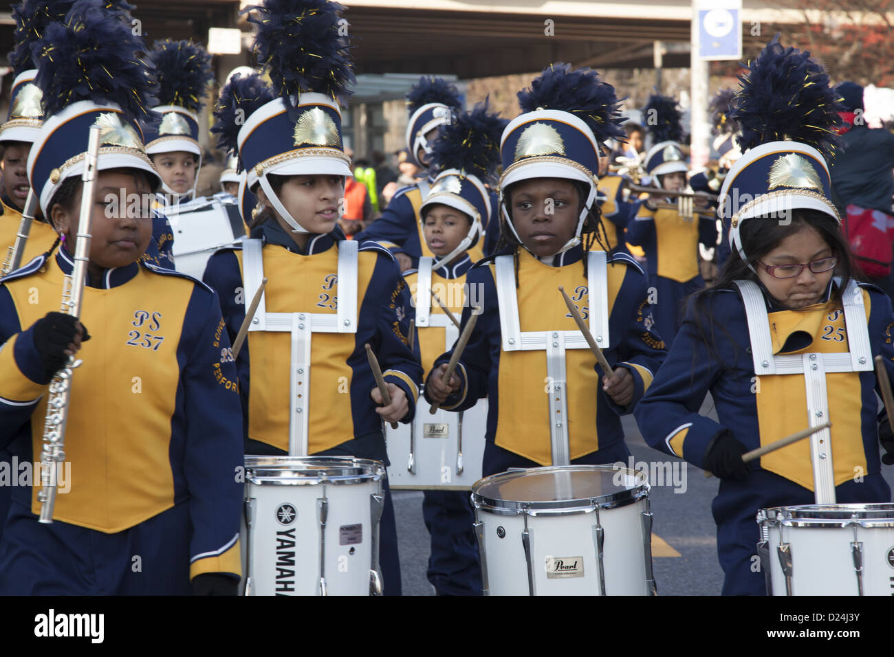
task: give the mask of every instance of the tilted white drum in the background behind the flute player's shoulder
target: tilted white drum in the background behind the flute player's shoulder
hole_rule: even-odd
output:
[[[239,204],[227,194],[196,198],[161,211],[171,223],[177,271],[199,280],[208,258],[245,234]]]

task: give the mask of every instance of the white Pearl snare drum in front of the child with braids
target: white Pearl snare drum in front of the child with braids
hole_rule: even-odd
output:
[[[485,594],[654,595],[644,473],[532,467],[472,487]]]

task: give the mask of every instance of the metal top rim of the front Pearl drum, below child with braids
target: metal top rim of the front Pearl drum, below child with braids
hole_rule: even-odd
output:
[[[642,478],[642,482],[633,488],[620,489],[615,493],[604,493],[595,497],[580,497],[573,500],[561,501],[519,501],[519,500],[503,500],[501,498],[488,497],[478,493],[478,490],[485,484],[491,484],[496,477],[503,476],[506,479],[513,479],[519,476],[529,474],[540,474],[546,471],[576,471],[576,472],[594,472],[606,471],[612,474],[624,471],[629,476]],[[615,466],[591,466],[591,465],[574,465],[574,466],[545,466],[545,467],[525,467],[506,472],[499,472],[491,476],[485,476],[472,484],[472,503],[476,510],[485,510],[496,515],[517,516],[522,513],[528,516],[561,516],[574,515],[578,513],[589,513],[596,508],[600,510],[617,509],[620,507],[634,504],[642,499],[648,499],[651,486],[645,473],[638,470],[631,470],[628,467]]]

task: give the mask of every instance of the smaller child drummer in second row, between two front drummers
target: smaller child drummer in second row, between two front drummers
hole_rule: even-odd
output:
[[[435,142],[432,162],[441,173],[420,207],[426,245],[434,257],[420,257],[420,270],[404,273],[418,318],[422,305],[429,315],[443,316],[440,305],[420,294],[446,289],[439,295],[454,316],[468,305],[460,291],[472,266],[468,249],[483,238],[482,219],[489,212],[490,192],[485,182],[500,164],[500,136],[506,122],[488,114],[487,102],[469,113],[455,115]],[[426,279],[419,284],[420,277]],[[443,326],[418,322],[419,353],[427,375],[444,350]],[[427,417],[427,409],[422,409]],[[474,429],[473,429],[474,431]],[[467,443],[468,444],[468,443]],[[428,560],[428,581],[439,595],[481,594],[481,565],[477,539],[472,529],[475,518],[468,491],[425,491],[422,515],[432,541]]]

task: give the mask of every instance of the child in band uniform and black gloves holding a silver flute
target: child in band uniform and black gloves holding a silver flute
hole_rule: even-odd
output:
[[[70,355],[83,363],[67,404],[71,477],[66,467],[51,525],[38,522],[38,484],[13,490],[3,594],[235,594],[239,581],[240,413],[235,368],[220,359],[228,343],[216,295],[141,262],[150,216],[106,200],[161,183],[137,122],[151,80],[134,56],[143,48],[99,0],[74,4],[35,46],[46,121],[28,171],[63,241],[0,285],[0,447],[38,459],[47,383]],[[102,131],[76,319],[56,311],[72,274],[91,125]]]

